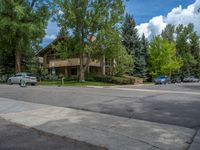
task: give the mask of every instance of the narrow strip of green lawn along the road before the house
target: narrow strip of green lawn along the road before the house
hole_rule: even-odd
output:
[[[38,85],[52,85],[52,86],[112,86],[112,83],[103,83],[103,82],[78,82],[78,81],[65,81],[62,85],[61,81],[42,81],[38,82]]]

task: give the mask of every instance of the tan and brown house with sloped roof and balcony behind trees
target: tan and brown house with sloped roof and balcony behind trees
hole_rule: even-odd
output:
[[[41,67],[48,69],[50,75],[64,75],[69,78],[77,78],[80,68],[80,59],[78,57],[71,57],[67,59],[58,58],[53,45],[56,45],[59,40],[59,38],[55,39],[38,53],[39,63]],[[86,63],[86,58],[84,59],[84,63]],[[99,60],[91,59],[87,73],[95,75],[111,74],[110,63],[106,61],[105,58]]]

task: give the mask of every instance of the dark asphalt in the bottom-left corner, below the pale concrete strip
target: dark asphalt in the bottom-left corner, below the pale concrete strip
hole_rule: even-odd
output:
[[[0,118],[0,150],[106,150],[25,128]]]

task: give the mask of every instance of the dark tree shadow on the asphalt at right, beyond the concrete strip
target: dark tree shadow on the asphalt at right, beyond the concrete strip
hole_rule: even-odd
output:
[[[187,99],[186,95],[183,97]],[[191,101],[182,101],[181,97],[177,100],[170,100],[170,97],[169,100],[158,100],[157,97],[152,96],[136,101],[124,99],[123,102],[121,99],[98,104],[98,106],[87,106],[87,108],[105,114],[196,129],[200,127],[200,101],[198,100],[200,100],[198,96],[193,97]]]

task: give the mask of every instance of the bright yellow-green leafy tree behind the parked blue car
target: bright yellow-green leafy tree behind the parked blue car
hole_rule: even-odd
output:
[[[176,47],[160,36],[152,39],[148,51],[148,67],[150,75],[171,75],[172,71],[180,69],[182,60],[176,56]]]

